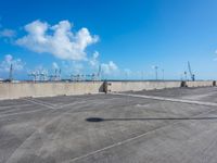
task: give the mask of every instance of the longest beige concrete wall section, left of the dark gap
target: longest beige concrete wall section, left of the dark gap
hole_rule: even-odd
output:
[[[54,97],[98,93],[103,90],[103,82],[80,83],[3,83],[0,84],[0,100],[25,97]]]

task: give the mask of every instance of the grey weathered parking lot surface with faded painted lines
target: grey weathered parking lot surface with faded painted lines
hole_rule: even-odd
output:
[[[216,87],[0,101],[0,163],[216,161]]]

